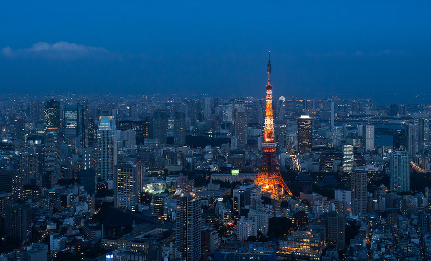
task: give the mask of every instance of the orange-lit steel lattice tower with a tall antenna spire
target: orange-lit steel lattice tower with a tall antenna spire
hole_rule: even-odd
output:
[[[273,119],[273,86],[271,85],[271,60],[268,53],[268,85],[266,86],[266,112],[265,132],[262,146],[262,158],[260,160],[260,171],[254,180],[254,184],[262,187],[262,192],[271,192],[275,200],[278,199],[278,188],[292,196],[292,192],[284,183],[280,172],[277,170],[277,143],[274,141],[274,119]]]

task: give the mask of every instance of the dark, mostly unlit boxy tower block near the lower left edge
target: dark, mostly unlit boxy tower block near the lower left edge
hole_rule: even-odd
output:
[[[6,236],[21,242],[31,239],[31,209],[27,204],[8,204],[5,209]]]

